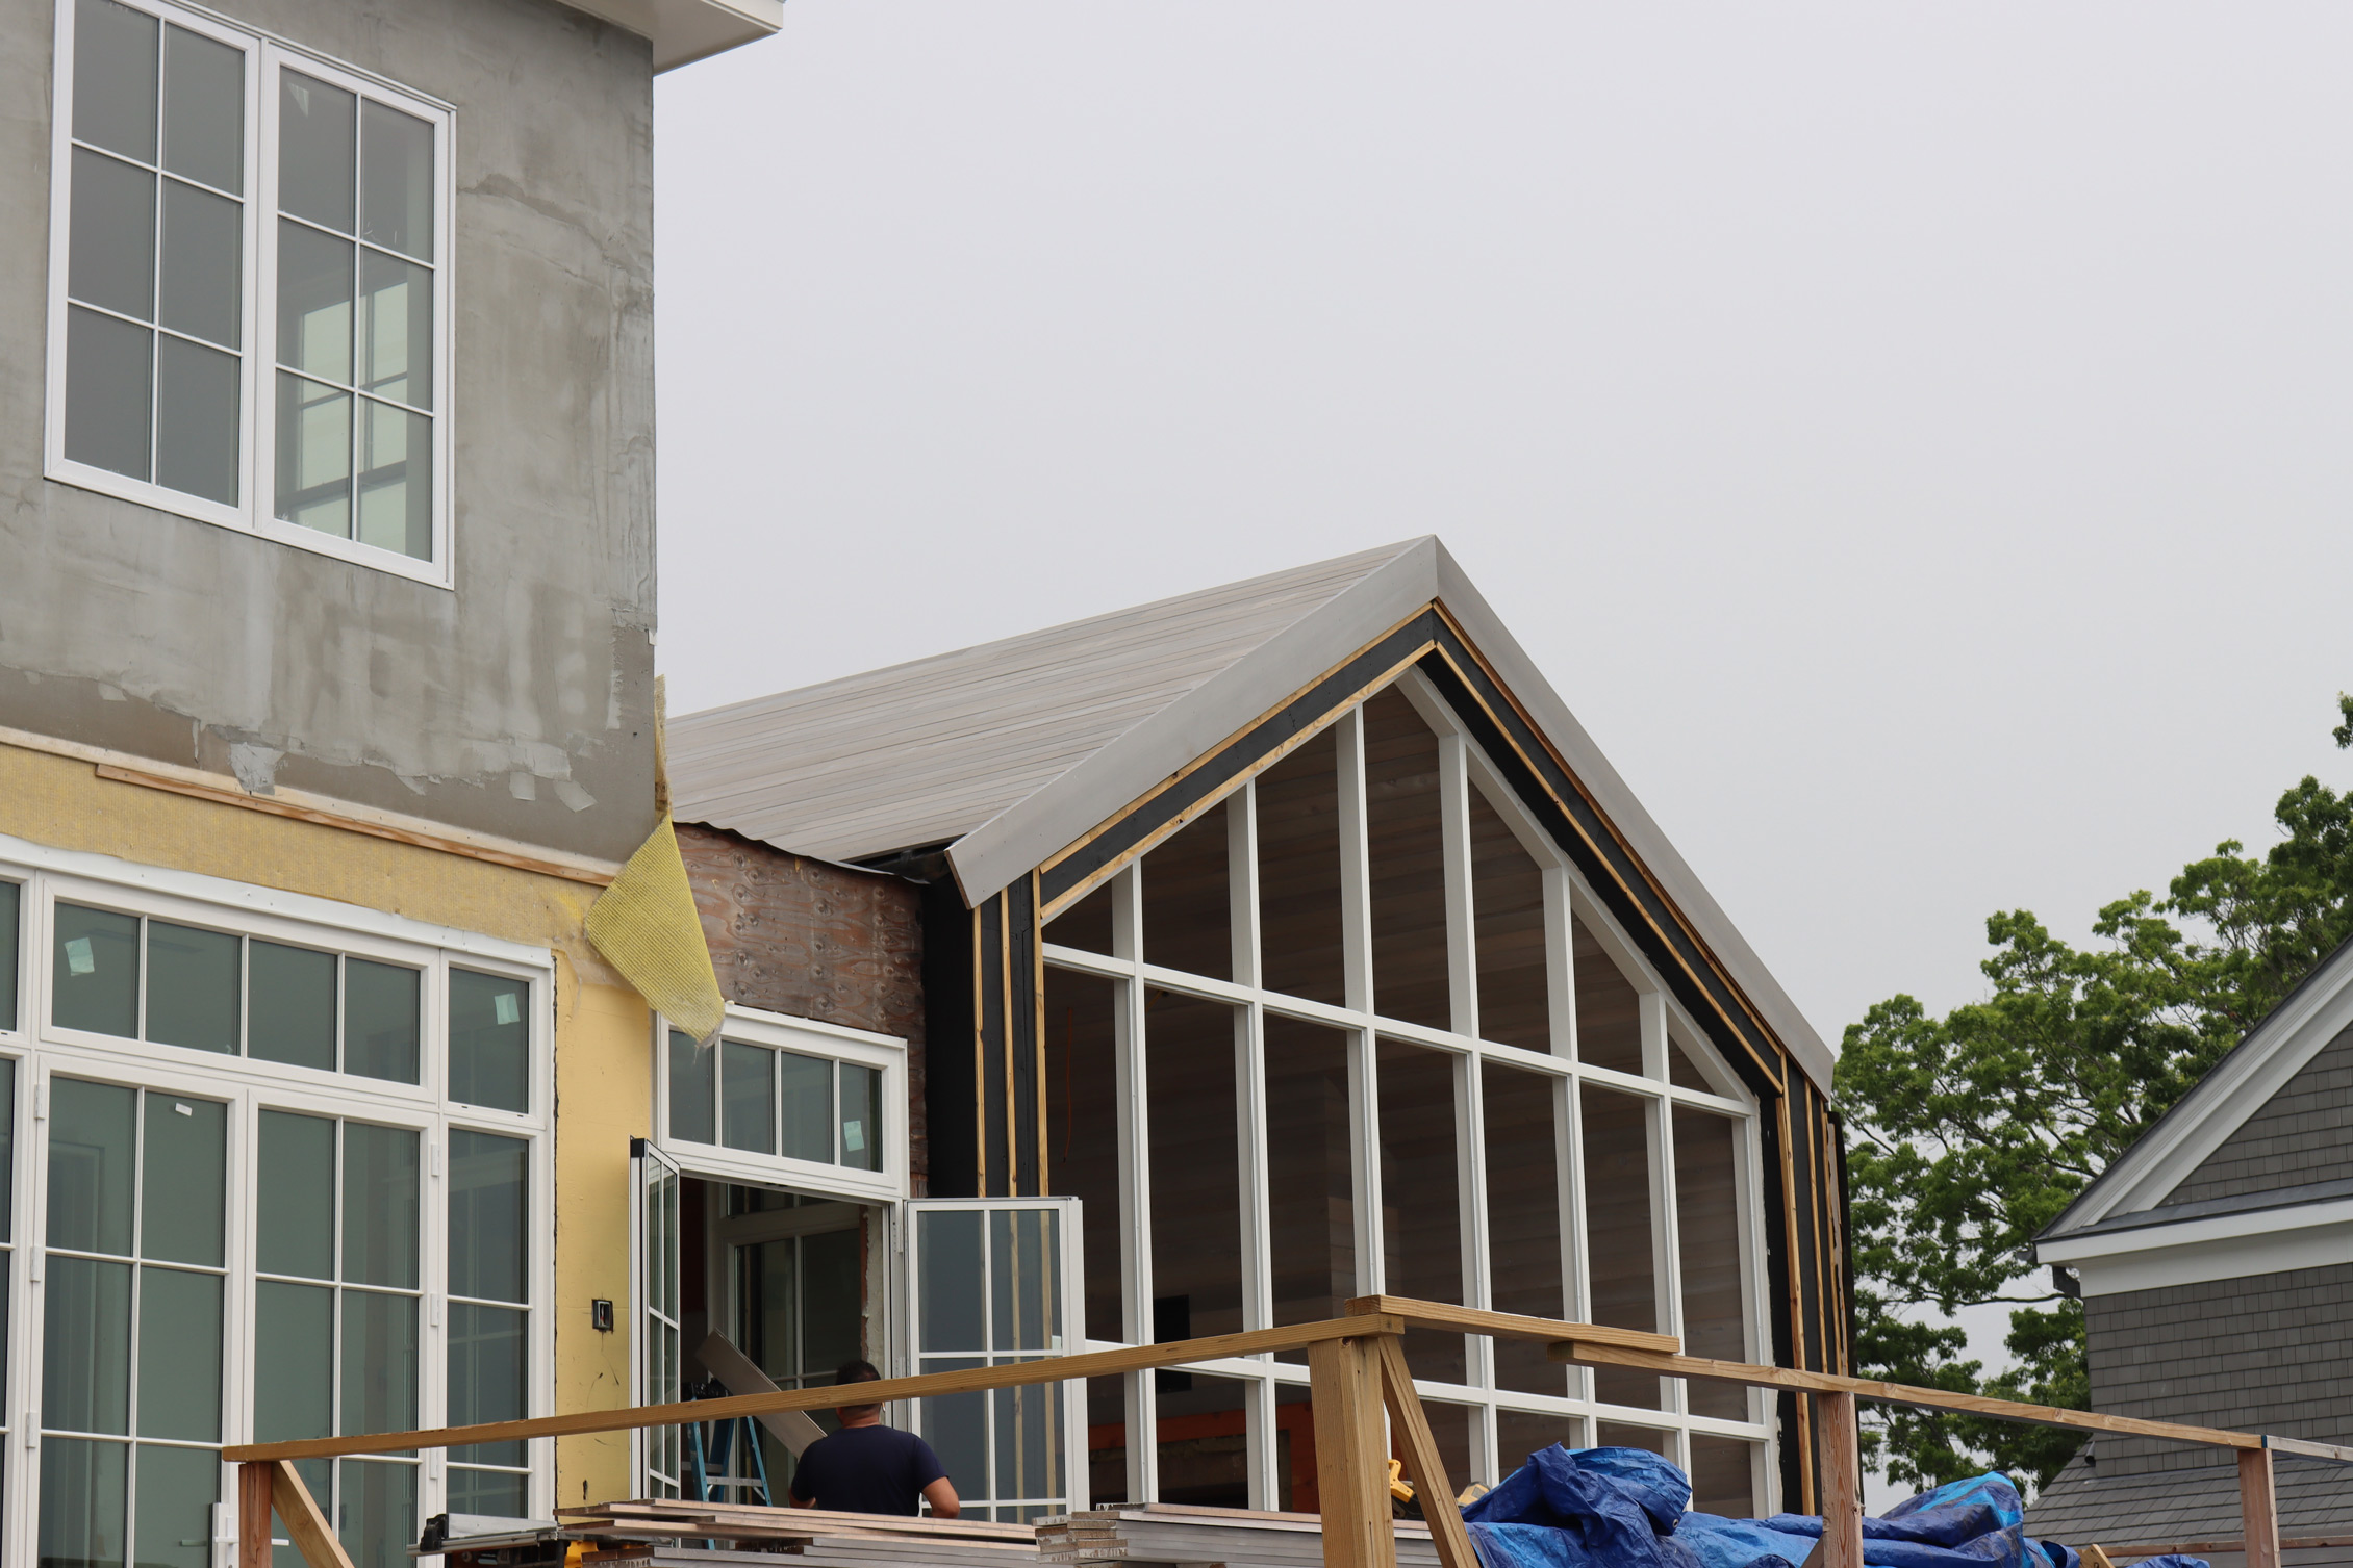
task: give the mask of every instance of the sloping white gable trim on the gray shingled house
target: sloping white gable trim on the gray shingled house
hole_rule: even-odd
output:
[[[2214,1063],[2195,1088],[2042,1229],[2042,1239],[2057,1241],[2111,1215],[2162,1204],[2346,1027],[2353,1027],[2353,943],[2332,952]]]

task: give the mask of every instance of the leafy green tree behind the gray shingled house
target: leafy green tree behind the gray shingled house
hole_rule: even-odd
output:
[[[2353,696],[2337,708],[2353,748]],[[2306,778],[2273,816],[2266,853],[2217,844],[2165,898],[2104,907],[2089,947],[2007,910],[1986,922],[1986,997],[1944,1018],[1889,997],[1847,1025],[1859,1373],[2087,1406],[2082,1307],[2028,1244],[2353,933],[2353,790]],[[1991,1378],[1948,1321],[1986,1302],[2012,1307],[2014,1366]],[[1995,1467],[2042,1486],[2078,1439],[1880,1406],[1866,1446],[1899,1483]]]

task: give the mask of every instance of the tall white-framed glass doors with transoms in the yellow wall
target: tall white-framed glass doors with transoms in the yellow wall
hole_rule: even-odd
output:
[[[7,1561],[212,1568],[224,1443],[546,1408],[551,999],[544,950],[0,839]],[[391,1568],[551,1460],[304,1469]]]

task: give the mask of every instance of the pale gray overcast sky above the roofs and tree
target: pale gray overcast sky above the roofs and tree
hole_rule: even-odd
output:
[[[1440,534],[1828,1039],[2327,741],[2353,9],[791,0],[656,89],[675,712]]]

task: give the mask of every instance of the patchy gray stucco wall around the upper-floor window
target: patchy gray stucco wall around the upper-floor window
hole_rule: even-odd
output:
[[[649,45],[555,0],[214,9],[456,106],[456,592],[42,480],[56,5],[0,0],[0,724],[624,858],[654,769]]]

